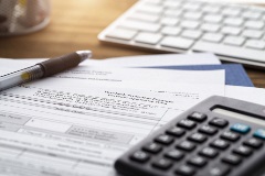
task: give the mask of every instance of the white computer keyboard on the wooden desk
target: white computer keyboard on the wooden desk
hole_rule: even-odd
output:
[[[265,8],[139,0],[98,38],[160,52],[211,52],[223,61],[265,67]]]

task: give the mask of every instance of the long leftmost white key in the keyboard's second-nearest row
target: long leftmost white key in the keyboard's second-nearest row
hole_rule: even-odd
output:
[[[136,20],[125,20],[121,23],[119,23],[118,26],[146,32],[158,32],[160,29],[160,25],[157,23],[148,23]]]

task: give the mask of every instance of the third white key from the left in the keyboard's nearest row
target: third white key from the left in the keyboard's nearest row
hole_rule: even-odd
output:
[[[188,50],[192,46],[193,43],[194,41],[190,38],[166,36],[160,44],[161,46]]]

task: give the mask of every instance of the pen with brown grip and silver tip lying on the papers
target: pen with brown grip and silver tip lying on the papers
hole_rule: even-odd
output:
[[[77,51],[61,57],[47,59],[8,75],[3,75],[0,77],[0,91],[73,68],[91,56],[91,51]]]

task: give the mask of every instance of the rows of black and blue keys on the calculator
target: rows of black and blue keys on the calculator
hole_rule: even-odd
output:
[[[263,146],[261,139],[265,139],[265,131],[259,129],[253,136],[242,139],[251,132],[250,125],[230,124],[227,120],[219,117],[208,119],[204,113],[192,112],[165,130],[165,134],[157,135],[153,142],[144,145],[141,151],[135,152],[130,158],[146,163],[158,155],[151,166],[160,170],[172,169],[176,176],[195,175],[212,161],[219,161],[209,167],[208,175],[225,176],[233,166],[240,165],[245,157],[250,157],[255,150]],[[237,145],[233,145],[235,143]],[[229,152],[223,155],[222,152],[225,151]],[[219,155],[220,160],[216,160]]]

